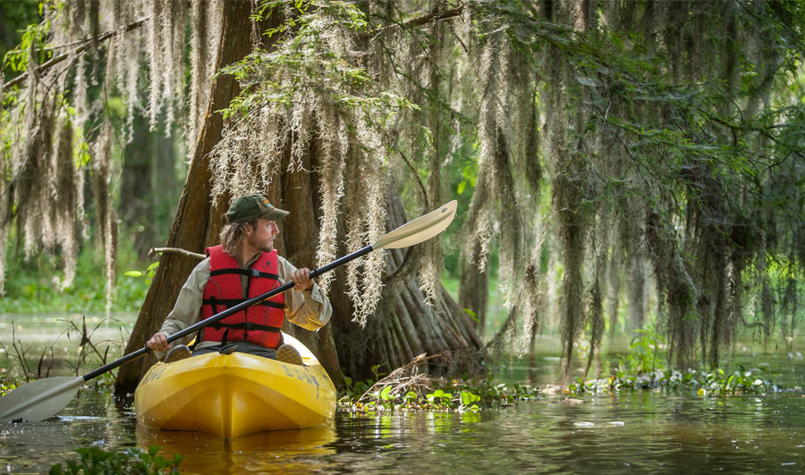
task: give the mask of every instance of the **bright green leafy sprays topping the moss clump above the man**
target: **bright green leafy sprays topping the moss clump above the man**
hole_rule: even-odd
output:
[[[329,39],[343,38],[344,32],[366,31],[368,23],[360,9],[350,2],[264,1],[255,19],[276,9],[284,9],[284,23],[264,32],[278,36],[271,52],[258,49],[239,63],[218,74],[231,74],[241,81],[242,92],[235,97],[225,117],[245,117],[267,105],[291,107],[297,93],[314,88],[330,96],[342,110],[362,112],[356,120],[382,126],[399,109],[419,106],[391,91],[377,87],[377,81],[356,57],[339,52]]]

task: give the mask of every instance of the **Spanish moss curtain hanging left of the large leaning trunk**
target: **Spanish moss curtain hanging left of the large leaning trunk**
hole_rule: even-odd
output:
[[[219,5],[208,6],[204,28],[199,31],[209,36],[198,38],[194,46],[194,63],[199,64],[191,94],[194,103],[208,94],[201,83],[208,87],[216,47],[216,40],[209,38],[217,38],[219,28]],[[8,81],[10,86],[0,87],[4,95],[2,133],[4,143],[11,144],[4,148],[4,167],[10,180],[4,181],[4,196],[9,198],[8,207],[0,209],[4,211],[0,235],[7,237],[8,226],[16,221],[25,255],[40,251],[58,254],[64,265],[64,279],[59,285],[63,290],[70,287],[79,241],[86,234],[83,169],[89,167],[92,193],[98,200],[97,234],[106,269],[107,311],[116,254],[110,191],[116,160],[111,155],[112,141],[131,141],[134,113],[142,106],[138,91],[146,84],[151,126],[163,118],[165,130],[170,132],[170,123],[183,109],[188,17],[188,5],[173,0],[145,4],[45,2],[42,21],[30,29],[35,35],[27,49],[13,52],[27,58],[27,67],[20,77]],[[38,48],[46,44],[54,45],[53,58],[42,62],[43,50]],[[148,68],[143,75],[145,59]],[[89,93],[97,87],[101,94]],[[104,117],[106,101],[112,96],[122,96],[125,104],[120,134]],[[103,123],[106,125],[98,125]],[[88,139],[92,146],[86,143]],[[4,256],[0,255],[0,261]],[[4,262],[0,262],[0,269],[4,269]]]

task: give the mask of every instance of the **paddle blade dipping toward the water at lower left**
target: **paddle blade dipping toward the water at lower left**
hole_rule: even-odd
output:
[[[38,422],[64,409],[84,379],[60,376],[31,381],[0,397],[0,421]]]

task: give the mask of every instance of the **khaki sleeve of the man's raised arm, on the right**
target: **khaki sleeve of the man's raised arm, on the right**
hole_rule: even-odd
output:
[[[282,283],[291,280],[291,274],[296,271],[296,267],[286,261],[283,257],[277,257],[277,271]],[[315,331],[324,327],[330,316],[333,314],[333,307],[330,301],[318,284],[313,284],[313,288],[303,290],[286,290],[285,296],[285,318],[294,325],[303,329]]]

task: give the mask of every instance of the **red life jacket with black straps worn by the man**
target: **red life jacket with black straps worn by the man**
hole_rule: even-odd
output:
[[[249,298],[265,294],[279,287],[276,270],[276,251],[261,253],[250,269],[241,269],[238,262],[226,254],[223,246],[208,247],[209,282],[204,289],[201,318],[207,319],[224,312]],[[249,276],[249,295],[243,298],[241,276]],[[280,329],[285,318],[283,294],[234,313],[204,328],[204,341],[246,340],[267,348],[276,348],[282,342]]]

